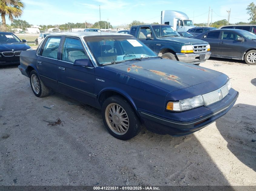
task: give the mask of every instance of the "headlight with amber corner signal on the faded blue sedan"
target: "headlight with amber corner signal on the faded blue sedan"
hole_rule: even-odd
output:
[[[190,110],[195,107],[203,106],[204,105],[204,100],[203,96],[195,96],[191,97],[185,100],[180,100],[178,102],[171,102],[169,101],[167,103],[167,110],[171,111],[185,111],[185,110]]]

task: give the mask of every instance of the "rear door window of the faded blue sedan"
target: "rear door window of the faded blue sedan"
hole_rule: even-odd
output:
[[[49,37],[42,49],[41,56],[57,59],[61,37]]]

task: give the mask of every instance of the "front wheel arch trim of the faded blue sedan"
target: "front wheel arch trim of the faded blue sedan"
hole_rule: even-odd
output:
[[[101,90],[100,93],[97,96],[98,103],[100,104],[100,106],[102,106],[103,102],[108,97],[111,97],[113,95],[119,95],[121,97],[124,97],[131,104],[131,106],[135,110],[138,117],[140,117],[140,115],[138,113],[138,109],[137,109],[133,99],[131,98],[131,96],[128,95],[125,91],[123,91],[121,89],[118,89],[118,88],[111,87],[111,88],[104,88],[103,90]]]

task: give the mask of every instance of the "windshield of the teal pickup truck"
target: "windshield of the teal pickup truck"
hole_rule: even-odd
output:
[[[179,33],[170,25],[152,26],[157,37],[180,37]]]

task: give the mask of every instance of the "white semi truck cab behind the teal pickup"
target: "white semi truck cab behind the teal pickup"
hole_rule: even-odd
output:
[[[161,24],[171,25],[178,32],[187,32],[188,29],[195,27],[188,15],[181,11],[172,10],[161,11]]]

